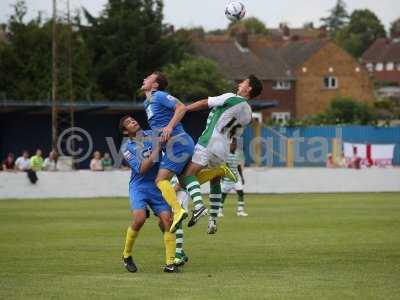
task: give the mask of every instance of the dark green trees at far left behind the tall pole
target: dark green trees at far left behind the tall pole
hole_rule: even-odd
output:
[[[24,22],[25,1],[18,1],[7,24],[8,41],[0,45],[0,93],[12,100],[49,100],[52,80],[52,21],[41,16]],[[59,99],[69,98],[66,65],[68,26],[58,24]],[[90,52],[79,32],[71,36],[75,98],[85,99],[87,89],[96,91],[91,78]]]

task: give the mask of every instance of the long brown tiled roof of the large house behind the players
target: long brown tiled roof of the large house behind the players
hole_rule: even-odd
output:
[[[293,70],[304,63],[327,40],[287,42],[278,47],[268,38],[249,38],[243,49],[234,38],[209,36],[195,41],[196,54],[217,62],[229,79],[255,74],[260,79],[294,79]]]

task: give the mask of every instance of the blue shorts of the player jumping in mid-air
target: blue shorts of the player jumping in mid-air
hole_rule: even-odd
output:
[[[194,142],[187,133],[173,136],[163,149],[160,169],[167,169],[180,175],[186,164],[192,160]]]

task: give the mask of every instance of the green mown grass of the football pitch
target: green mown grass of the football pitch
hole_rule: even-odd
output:
[[[0,201],[0,299],[399,299],[399,193],[246,201],[215,236],[185,228],[181,274],[161,272],[155,217],[123,269],[127,199]]]

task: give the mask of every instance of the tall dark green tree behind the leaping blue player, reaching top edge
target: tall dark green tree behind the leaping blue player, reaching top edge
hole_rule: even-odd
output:
[[[97,84],[108,99],[136,99],[146,75],[179,62],[188,51],[188,41],[162,23],[162,11],[161,0],[109,0],[99,17],[84,10],[89,26],[81,30],[94,53]]]

